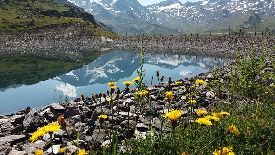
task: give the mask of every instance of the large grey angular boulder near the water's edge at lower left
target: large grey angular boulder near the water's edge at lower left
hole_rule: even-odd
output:
[[[44,120],[45,120],[45,117],[43,115],[41,115],[36,109],[32,109],[25,116],[25,119],[23,121],[23,126],[31,129],[33,125],[41,124],[44,122]]]

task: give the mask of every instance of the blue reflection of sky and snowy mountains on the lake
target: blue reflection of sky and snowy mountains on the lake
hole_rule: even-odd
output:
[[[125,88],[124,81],[131,81],[137,77],[137,64],[139,64],[138,53],[126,53],[114,51],[99,56],[94,62],[84,65],[80,69],[70,71],[66,74],[41,81],[33,85],[22,85],[15,88],[7,88],[0,92],[1,105],[0,114],[10,114],[25,107],[43,107],[51,103],[57,103],[62,98],[64,102],[65,94],[70,99],[91,96],[91,93],[98,94],[106,92],[107,82],[115,81],[116,86],[121,90]],[[211,69],[213,65],[223,65],[227,59],[201,57],[190,55],[164,55],[147,54],[144,68],[146,68],[146,82],[153,84],[158,82],[156,70],[160,75],[164,75],[166,82],[168,76],[172,80],[178,80],[204,73]],[[134,86],[134,85],[133,85]]]

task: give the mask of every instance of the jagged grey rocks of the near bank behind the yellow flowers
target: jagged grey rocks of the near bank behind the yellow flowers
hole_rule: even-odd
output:
[[[267,64],[266,69],[271,69],[271,65]],[[161,73],[160,73],[161,74]],[[177,102],[174,101],[171,103],[171,106],[174,109],[180,108],[183,105],[182,109],[182,117],[187,119],[188,114],[191,113],[191,108],[189,107],[188,102],[184,102],[185,94],[189,93],[189,88],[192,86],[190,82],[194,82],[196,79],[205,80],[209,85],[209,80],[212,80],[211,73],[199,74],[197,77],[192,78],[184,78],[179,81],[182,81],[182,86],[185,86],[185,89],[180,89],[178,93]],[[220,83],[227,84],[229,81],[229,72],[226,66],[221,67],[219,69],[219,78]],[[266,83],[268,86],[269,83]],[[195,86],[199,90],[198,96],[195,96],[195,100],[197,100],[197,106],[195,109],[205,109],[207,111],[211,111],[211,106],[213,106],[214,96],[205,86],[199,86],[195,84]],[[146,131],[148,131],[148,125],[152,126],[159,130],[161,128],[161,123],[157,119],[158,116],[153,115],[155,112],[160,112],[163,115],[163,111],[167,112],[169,105],[166,104],[164,106],[164,97],[162,96],[162,91],[166,90],[168,87],[168,82],[165,82],[162,85],[155,85],[148,87],[148,90],[152,91],[151,93],[151,111],[149,109],[149,104],[144,106],[138,113],[134,113],[135,107],[135,97],[133,97],[134,89],[122,90],[124,92],[118,100],[118,104],[113,106],[114,110],[114,118],[113,122],[121,128],[119,123],[119,118],[121,119],[121,124],[126,125],[128,123],[129,129],[127,130],[127,134],[129,137],[135,137],[136,134],[139,136],[144,136]],[[172,88],[170,89],[172,92],[176,93],[178,91],[178,86],[172,83]],[[117,94],[115,94],[116,96]],[[109,108],[110,105],[104,98],[99,98],[96,94],[96,102],[99,106],[102,106],[103,111],[109,116]],[[108,98],[106,98],[108,99]],[[240,99],[239,96],[229,96],[229,100],[232,104],[236,101],[236,99]],[[100,102],[101,100],[101,102]],[[71,100],[68,103],[61,104],[50,104],[42,109],[35,109],[27,107],[20,111],[17,111],[15,114],[11,114],[8,117],[0,117],[0,154],[24,154],[24,155],[32,155],[35,150],[42,149],[44,150],[44,154],[51,154],[50,145],[38,140],[35,143],[30,143],[29,138],[34,131],[36,131],[39,127],[43,125],[47,125],[49,123],[56,122],[58,117],[63,115],[65,117],[65,121],[67,123],[67,130],[70,136],[75,137],[74,134],[79,131],[79,145],[89,150],[89,146],[93,143],[93,139],[95,139],[98,129],[99,129],[99,115],[103,114],[101,108],[97,106],[97,104],[90,97],[85,98],[84,102],[80,98],[76,98],[75,100]],[[227,93],[225,90],[222,90],[219,95],[219,102],[227,102]],[[82,106],[84,113],[80,111],[79,106]],[[92,111],[89,110],[92,109]],[[195,110],[196,111],[196,110]],[[119,114],[119,118],[118,118]],[[132,119],[128,122],[128,115],[133,115]],[[150,119],[150,115],[153,117]],[[84,118],[87,118],[87,122]],[[106,124],[110,124],[110,117],[106,119]],[[178,123],[184,123],[183,121],[179,121]],[[72,127],[72,125],[74,127]],[[92,132],[92,135],[89,133],[89,129]],[[166,131],[169,131],[170,127],[167,126],[165,128]],[[135,129],[135,130],[134,130]],[[136,131],[136,133],[134,133]],[[128,134],[129,133],[129,134]],[[49,140],[49,135],[45,134],[43,137],[45,140]],[[118,138],[123,140],[122,133],[118,134]],[[58,132],[53,133],[53,142],[56,144],[71,144],[68,139],[68,135],[64,132],[64,129],[61,129]],[[109,139],[103,129],[101,129],[99,137],[97,138],[97,143],[100,146],[104,146],[109,143]],[[58,154],[58,148],[60,146],[54,146],[54,154]],[[74,154],[76,148],[74,146],[66,146],[66,154]],[[123,146],[119,146],[119,150],[123,151]]]

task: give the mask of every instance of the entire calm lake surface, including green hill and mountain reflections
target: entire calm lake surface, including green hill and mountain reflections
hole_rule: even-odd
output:
[[[25,107],[42,108],[51,103],[106,92],[115,81],[121,90],[125,80],[137,77],[140,48],[28,47],[0,48],[0,115]],[[157,84],[160,75],[178,80],[224,65],[228,55],[190,50],[146,49],[146,81]],[[166,54],[160,54],[166,53]],[[173,54],[167,54],[173,53]],[[181,54],[178,54],[181,53]]]

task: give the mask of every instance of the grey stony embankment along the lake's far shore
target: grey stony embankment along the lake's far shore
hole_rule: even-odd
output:
[[[255,50],[257,55],[262,51],[262,45],[266,39],[270,52],[274,52],[274,36],[192,36],[192,37],[121,37],[111,42],[103,42],[100,37],[94,36],[20,36],[20,37],[0,37],[0,47],[7,46],[53,46],[53,45],[71,45],[71,46],[104,46],[104,47],[141,47],[163,49],[185,49],[200,50],[226,53],[235,55],[240,52],[242,55],[252,50],[255,41]]]

